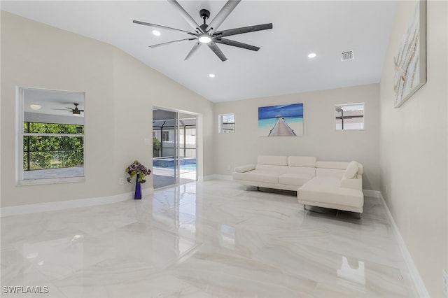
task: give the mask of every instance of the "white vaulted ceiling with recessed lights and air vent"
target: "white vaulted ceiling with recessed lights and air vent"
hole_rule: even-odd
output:
[[[200,9],[210,10],[209,23],[226,1],[179,3],[201,24]],[[132,20],[191,30],[167,1],[1,1],[2,10],[115,45],[214,102],[379,83],[395,8],[396,1],[243,0],[219,29],[269,22],[273,29],[230,36],[260,50],[218,44],[228,58],[221,62],[204,45],[184,60],[195,41],[148,48],[185,35],[154,36]],[[346,50],[355,59],[342,62]]]

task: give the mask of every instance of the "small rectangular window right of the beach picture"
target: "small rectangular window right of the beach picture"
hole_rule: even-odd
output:
[[[335,106],[336,129],[364,129],[364,103]]]

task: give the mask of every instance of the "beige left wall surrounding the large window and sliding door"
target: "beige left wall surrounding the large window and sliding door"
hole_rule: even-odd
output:
[[[85,182],[15,185],[15,87],[85,92]],[[106,197],[139,159],[152,168],[153,106],[199,116],[200,146],[213,148],[213,104],[121,50],[1,12],[1,206]],[[214,173],[213,150],[200,152],[200,175]],[[152,187],[152,180],[144,188]]]

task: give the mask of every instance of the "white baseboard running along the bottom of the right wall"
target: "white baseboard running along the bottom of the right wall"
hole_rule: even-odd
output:
[[[381,201],[384,204],[384,207],[386,208],[386,214],[387,214],[388,220],[391,222],[392,229],[395,234],[395,238],[397,239],[398,246],[400,247],[403,257],[405,258],[405,263],[407,265],[407,269],[409,269],[412,281],[414,281],[415,288],[416,288],[417,292],[419,293],[419,297],[425,297],[425,298],[430,297],[428,290],[426,289],[426,285],[423,282],[423,279],[421,278],[421,276],[419,274],[419,270],[415,266],[414,260],[412,260],[412,256],[409,253],[409,250],[407,250],[406,243],[400,234],[400,230],[398,229],[397,225],[395,224],[395,220],[393,220],[392,213],[391,213],[391,211],[389,211],[389,208],[386,204],[386,201],[384,201],[384,197],[382,196],[381,192],[379,192],[379,198],[381,199]]]

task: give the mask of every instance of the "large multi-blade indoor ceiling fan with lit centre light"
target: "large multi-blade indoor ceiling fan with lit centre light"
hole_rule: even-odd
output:
[[[174,8],[176,8],[179,13],[181,13],[182,17],[190,24],[190,26],[195,30],[195,32],[191,31],[185,31],[181,29],[176,29],[172,27],[166,27],[159,24],[151,24],[147,22],[141,22],[137,20],[133,20],[135,24],[142,24],[149,27],[156,27],[161,29],[168,29],[172,31],[178,31],[182,32],[184,34],[188,34],[190,37],[179,39],[177,41],[168,41],[167,43],[159,43],[157,45],[150,45],[150,48],[156,48],[160,47],[161,45],[167,45],[170,43],[178,43],[181,41],[196,41],[195,45],[193,45],[193,48],[188,53],[187,57],[185,59],[188,59],[193,55],[194,52],[202,45],[202,43],[205,43],[209,46],[209,48],[214,51],[214,53],[221,59],[221,61],[226,61],[227,57],[223,54],[220,48],[218,48],[218,45],[216,43],[221,43],[223,45],[232,45],[234,47],[238,48],[244,48],[246,50],[254,50],[258,51],[260,50],[259,47],[256,47],[255,45],[248,45],[246,43],[240,43],[239,41],[232,41],[228,38],[223,38],[225,36],[232,36],[237,34],[243,34],[253,31],[260,31],[265,29],[272,29],[272,23],[268,24],[258,24],[248,27],[240,27],[235,29],[228,29],[228,30],[222,30],[222,31],[216,31],[218,27],[224,22],[224,20],[232,13],[232,10],[238,5],[238,3],[241,0],[229,0],[223,8],[219,11],[219,13],[214,17],[214,19],[210,22],[210,24],[206,23],[206,20],[210,17],[210,12],[207,9],[201,9],[200,10],[200,16],[204,20],[204,24],[198,25],[195,20],[193,20],[193,17],[191,17],[186,10],[183,9],[181,4],[177,2],[176,0],[168,0],[169,3],[171,3]]]

